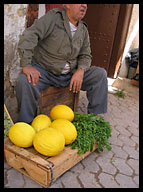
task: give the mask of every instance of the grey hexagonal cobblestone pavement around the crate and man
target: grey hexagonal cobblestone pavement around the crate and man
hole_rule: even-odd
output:
[[[59,177],[50,188],[139,188],[139,96],[138,88],[124,99],[108,94],[112,150],[91,153]],[[81,92],[78,112],[86,113],[86,92]],[[5,188],[42,188],[4,162]]]

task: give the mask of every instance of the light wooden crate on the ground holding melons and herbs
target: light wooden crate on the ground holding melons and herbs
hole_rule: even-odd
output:
[[[96,143],[93,151],[95,149],[97,149]],[[33,147],[24,149],[12,144],[9,138],[4,140],[4,153],[8,165],[45,188],[91,153],[88,151],[79,155],[77,151],[77,149],[65,147],[59,155],[46,157],[39,154]]]

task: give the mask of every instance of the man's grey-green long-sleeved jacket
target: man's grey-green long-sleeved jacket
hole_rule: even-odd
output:
[[[77,31],[72,38],[65,10],[52,9],[22,34],[18,48],[21,66],[39,63],[47,71],[60,75],[68,62],[70,71],[77,68],[87,71],[91,66],[91,49],[87,26],[78,22]]]

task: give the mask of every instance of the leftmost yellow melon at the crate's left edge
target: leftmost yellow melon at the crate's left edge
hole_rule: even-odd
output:
[[[9,129],[8,136],[18,147],[31,147],[36,132],[33,127],[24,122],[18,122]]]

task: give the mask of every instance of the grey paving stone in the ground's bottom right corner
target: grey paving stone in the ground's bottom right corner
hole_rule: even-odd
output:
[[[120,184],[120,188],[138,188],[138,185],[129,176],[117,174],[115,179]]]

